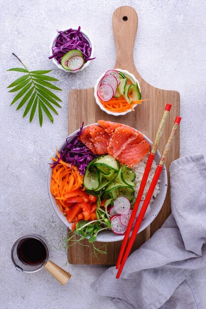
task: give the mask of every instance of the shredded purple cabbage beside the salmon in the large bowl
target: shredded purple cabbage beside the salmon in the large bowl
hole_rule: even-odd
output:
[[[82,123],[79,131],[74,136],[68,137],[66,139],[67,145],[60,152],[60,157],[58,160],[54,163],[50,163],[51,168],[54,168],[62,159],[64,162],[78,167],[80,170],[80,175],[83,175],[89,162],[98,156],[97,154],[93,154],[91,150],[87,148],[87,146],[78,140],[78,136],[82,133],[83,125],[84,122]]]

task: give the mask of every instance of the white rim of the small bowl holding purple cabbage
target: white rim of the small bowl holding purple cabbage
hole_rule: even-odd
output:
[[[64,29],[60,29],[60,31],[65,32],[65,31],[67,31],[67,30],[70,29],[70,28],[72,28],[73,30],[77,30],[77,29],[78,29],[78,27],[77,27],[77,28],[76,28],[76,27],[67,27],[67,28],[64,28]],[[81,33],[83,34],[83,36],[89,41],[90,46],[92,47],[92,52],[91,52],[90,58],[93,58],[93,56],[94,56],[94,43],[93,43],[91,37],[90,37],[84,30],[81,29],[80,31],[81,31]],[[52,47],[55,45],[55,39],[57,39],[58,37],[59,37],[59,33],[57,32],[56,35],[55,35],[55,36],[53,37],[53,39],[51,40],[51,44],[50,44],[50,46],[49,46],[49,56],[52,56],[52,55],[53,55]],[[58,69],[60,69],[60,70],[62,70],[62,71],[65,71],[65,72],[67,72],[67,73],[77,73],[77,72],[83,71],[83,70],[84,70],[85,68],[87,68],[87,67],[89,66],[89,64],[90,64],[90,60],[89,60],[89,61],[87,61],[87,62],[83,65],[83,67],[82,67],[80,70],[77,70],[77,71],[69,71],[69,70],[64,69],[64,68],[62,67],[61,64],[58,64],[58,62],[57,62],[57,60],[55,59],[55,57],[52,58],[52,62],[57,66]]]

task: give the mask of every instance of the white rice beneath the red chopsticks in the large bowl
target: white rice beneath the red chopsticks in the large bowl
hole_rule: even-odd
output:
[[[145,167],[146,167],[148,156],[149,156],[149,154],[145,155],[143,157],[143,159],[141,159],[139,161],[139,163],[132,168],[132,170],[136,174],[136,178],[135,178],[136,186],[134,187],[134,189],[135,189],[135,197],[136,198],[137,198],[137,194],[138,194],[138,191],[139,191],[141,180],[142,180],[142,177],[143,177],[143,174],[144,174],[144,170],[145,170]],[[141,199],[145,199],[145,196],[146,196],[146,194],[147,194],[147,192],[149,190],[150,184],[151,184],[152,179],[154,177],[156,168],[157,168],[157,163],[154,160],[153,163],[152,163],[152,167],[151,167],[151,170],[150,170],[150,173],[149,173],[149,177],[147,179],[147,184],[145,186],[144,193],[143,193]],[[159,190],[160,189],[160,185],[159,185],[159,183],[160,183],[160,180],[158,180],[157,185],[155,187],[155,190],[154,190],[154,192],[152,194],[152,197],[151,197],[151,200],[150,200],[150,205],[154,201],[154,198],[157,196],[157,194],[160,193],[160,190]]]

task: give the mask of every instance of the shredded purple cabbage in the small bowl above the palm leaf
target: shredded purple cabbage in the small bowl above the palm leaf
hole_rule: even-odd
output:
[[[56,44],[52,47],[53,55],[50,56],[49,59],[55,58],[58,63],[61,63],[62,57],[72,49],[78,49],[82,52],[85,63],[89,60],[95,59],[90,58],[92,47],[80,30],[81,27],[79,26],[77,30],[70,28],[65,32],[57,31],[60,35],[55,39]]]

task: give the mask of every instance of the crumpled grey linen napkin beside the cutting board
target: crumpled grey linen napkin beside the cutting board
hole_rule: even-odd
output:
[[[91,287],[121,309],[201,308],[193,272],[206,266],[206,162],[202,154],[170,167],[172,214],[128,258],[120,279],[115,267]]]

